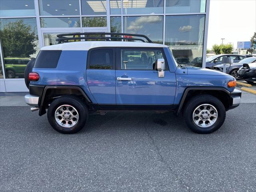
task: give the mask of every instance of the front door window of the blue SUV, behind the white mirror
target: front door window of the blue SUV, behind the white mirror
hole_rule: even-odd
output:
[[[162,59],[161,50],[121,50],[121,69],[154,70],[157,59]]]

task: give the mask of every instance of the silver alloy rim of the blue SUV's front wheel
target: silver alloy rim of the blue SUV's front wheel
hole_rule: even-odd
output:
[[[193,121],[197,126],[210,127],[218,119],[218,111],[210,104],[202,104],[193,112]]]

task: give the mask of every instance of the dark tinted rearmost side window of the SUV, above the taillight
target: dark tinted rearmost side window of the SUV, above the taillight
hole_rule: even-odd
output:
[[[61,50],[41,50],[34,68],[56,68],[61,52]]]

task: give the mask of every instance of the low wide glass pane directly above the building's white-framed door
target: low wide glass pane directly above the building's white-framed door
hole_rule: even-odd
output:
[[[41,27],[80,27],[79,17],[40,18]]]

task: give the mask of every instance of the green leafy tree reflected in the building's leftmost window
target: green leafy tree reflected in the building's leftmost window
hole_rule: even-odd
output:
[[[22,19],[1,24],[0,37],[4,47],[4,56],[29,57],[36,52],[35,29],[25,24]]]

